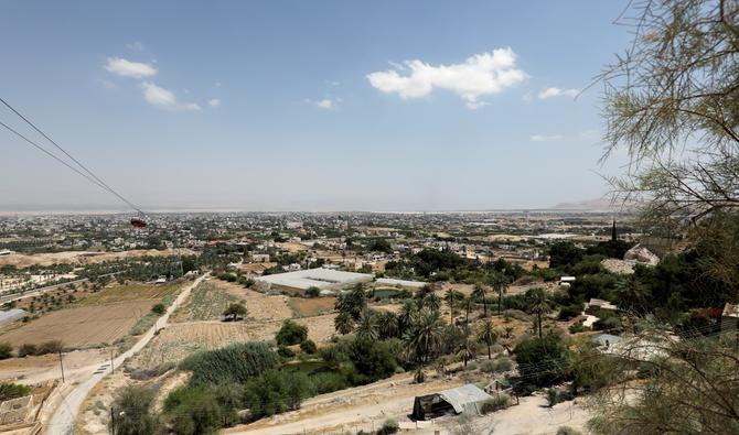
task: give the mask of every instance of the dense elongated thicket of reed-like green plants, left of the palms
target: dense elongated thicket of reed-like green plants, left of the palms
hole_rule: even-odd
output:
[[[265,370],[277,367],[277,355],[267,344],[250,341],[199,351],[185,358],[180,368],[191,371],[190,383],[197,385],[244,383]]]

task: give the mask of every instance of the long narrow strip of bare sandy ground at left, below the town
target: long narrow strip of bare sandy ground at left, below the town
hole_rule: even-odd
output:
[[[193,251],[189,249],[135,249],[122,252],[94,252],[94,251],[64,251],[38,253],[25,255],[22,253],[11,253],[0,257],[0,265],[12,264],[17,268],[28,268],[33,264],[52,265],[54,263],[74,263],[90,264],[100,263],[109,260],[129,259],[144,255],[168,257],[168,255],[192,255]]]

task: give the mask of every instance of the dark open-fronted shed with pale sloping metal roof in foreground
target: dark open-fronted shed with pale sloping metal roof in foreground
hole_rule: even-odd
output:
[[[426,420],[450,412],[480,414],[482,404],[492,399],[486,392],[468,383],[438,393],[417,396],[414,402],[413,416],[416,420]]]

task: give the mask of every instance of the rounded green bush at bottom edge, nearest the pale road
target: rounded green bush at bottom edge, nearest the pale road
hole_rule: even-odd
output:
[[[113,402],[114,421],[110,421],[115,435],[148,435],[157,429],[157,416],[151,406],[154,393],[151,389],[138,385],[124,387],[116,393]]]

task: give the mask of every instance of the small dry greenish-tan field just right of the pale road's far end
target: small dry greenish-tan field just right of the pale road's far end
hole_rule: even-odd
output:
[[[242,295],[239,295],[239,293]],[[219,320],[228,304],[245,302],[244,292],[203,281],[192,290],[188,301],[174,313],[171,322]]]

